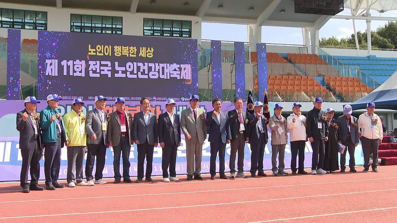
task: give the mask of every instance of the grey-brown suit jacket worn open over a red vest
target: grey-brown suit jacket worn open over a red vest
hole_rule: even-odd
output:
[[[133,143],[133,121],[132,115],[129,112],[124,111],[125,117],[127,117],[128,136],[131,144]],[[108,142],[112,142],[113,146],[118,146],[120,143],[121,127],[120,120],[117,111],[110,113],[110,121],[108,126]]]

